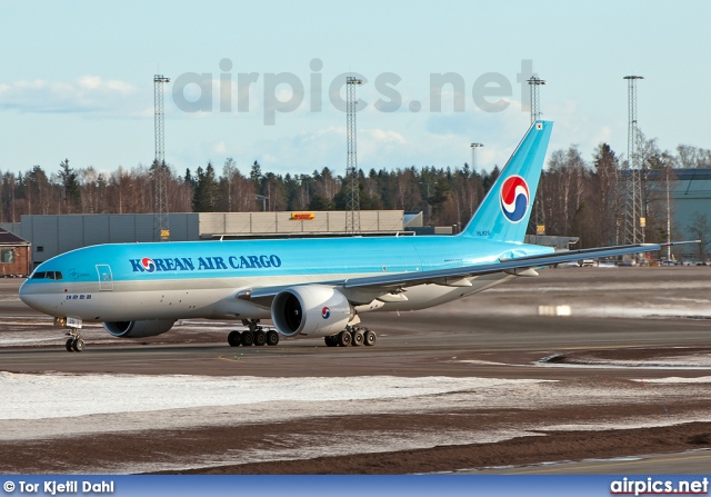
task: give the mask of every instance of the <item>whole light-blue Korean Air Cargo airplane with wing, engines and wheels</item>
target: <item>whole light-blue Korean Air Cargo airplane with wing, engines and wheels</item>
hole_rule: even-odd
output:
[[[142,338],[191,318],[241,320],[249,328],[229,334],[232,346],[274,346],[280,337],[372,346],[375,334],[361,325],[368,312],[438,306],[559,262],[659,250],[523,243],[552,127],[531,126],[457,236],[99,245],[41,264],[20,298],[68,330],[70,351],[83,349],[83,321]]]

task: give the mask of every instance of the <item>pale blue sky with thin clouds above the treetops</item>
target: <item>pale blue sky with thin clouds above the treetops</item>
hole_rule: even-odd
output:
[[[114,170],[154,156],[180,175],[232,157],[243,172],[346,167],[346,73],[358,165],[502,166],[524,133],[531,70],[551,149],[627,153],[627,74],[662,149],[711,148],[711,2],[2,1],[0,171]],[[442,82],[444,81],[444,82]],[[441,95],[439,90],[441,88]],[[523,101],[522,101],[523,100]],[[441,101],[441,106],[439,105]],[[441,108],[440,108],[441,107]]]

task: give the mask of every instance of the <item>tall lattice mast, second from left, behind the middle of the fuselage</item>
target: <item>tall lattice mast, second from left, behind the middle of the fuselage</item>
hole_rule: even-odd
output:
[[[348,157],[346,161],[346,179],[350,180],[346,213],[346,232],[360,233],[360,195],[358,189],[358,153],[356,142],[356,86],[363,81],[352,76],[346,78],[346,137],[348,140]]]

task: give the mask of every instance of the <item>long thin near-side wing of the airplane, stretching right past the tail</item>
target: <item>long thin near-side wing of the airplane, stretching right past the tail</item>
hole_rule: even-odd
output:
[[[671,242],[669,246],[698,243],[698,241],[677,241]],[[431,282],[441,282],[445,279],[461,279],[480,275],[490,275],[493,272],[510,271],[515,274],[517,270],[524,271],[531,268],[539,268],[543,266],[552,266],[563,262],[572,262],[580,259],[600,259],[603,257],[623,256],[629,254],[652,252],[660,250],[662,247],[667,247],[668,243],[637,243],[637,245],[621,245],[613,247],[600,247],[591,249],[569,250],[563,252],[545,254],[541,256],[530,257],[517,257],[511,259],[502,259],[498,262],[480,264],[474,266],[462,266],[447,269],[434,269],[429,271],[413,271],[413,272],[393,272],[388,275],[365,276],[349,278],[344,280],[330,280],[312,282],[318,285],[339,286],[343,288],[382,288],[384,291],[389,291],[393,288],[404,288],[414,285],[423,285]],[[519,272],[521,272],[519,271]],[[279,286],[279,287],[262,287],[256,288],[250,291],[250,298],[261,299],[276,296],[279,291],[293,287]]]

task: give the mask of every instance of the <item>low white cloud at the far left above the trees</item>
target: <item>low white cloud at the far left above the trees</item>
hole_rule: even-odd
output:
[[[140,111],[140,91],[126,81],[99,76],[81,76],[77,80],[19,80],[0,83],[0,108],[40,113],[118,113]]]

